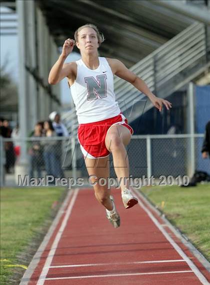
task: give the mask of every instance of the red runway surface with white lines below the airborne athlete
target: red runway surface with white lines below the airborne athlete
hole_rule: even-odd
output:
[[[106,219],[105,210],[95,200],[92,189],[79,190],[76,197],[76,190],[73,190],[68,202],[68,206],[69,203],[72,206],[70,215],[65,217],[67,206],[28,284],[208,284],[209,272],[167,227],[164,230],[196,265],[198,273],[208,281],[198,279],[145,209],[138,205],[124,209],[120,191],[112,192],[121,218],[121,225],[117,229]],[[160,224],[163,223],[156,213],[151,209],[149,211]],[[59,237],[58,230],[65,218],[67,223]],[[51,248],[56,240],[57,245]],[[63,265],[70,266],[51,267]],[[43,266],[45,271],[42,271]]]

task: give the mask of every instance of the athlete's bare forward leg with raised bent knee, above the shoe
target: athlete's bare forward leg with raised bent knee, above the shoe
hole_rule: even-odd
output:
[[[114,171],[118,178],[121,178],[121,191],[125,188],[129,189],[129,163],[128,157],[125,150],[125,146],[130,142],[130,131],[120,124],[112,125],[106,134],[105,145],[108,151],[112,153]]]

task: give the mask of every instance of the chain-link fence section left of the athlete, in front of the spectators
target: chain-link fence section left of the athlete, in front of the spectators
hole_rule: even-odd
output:
[[[18,175],[25,176],[28,180],[46,175],[51,177],[69,175],[63,167],[68,140],[68,137],[37,136],[21,139],[1,137],[1,186],[18,185]]]

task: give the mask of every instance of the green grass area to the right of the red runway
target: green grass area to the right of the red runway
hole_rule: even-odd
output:
[[[210,261],[210,185],[147,186],[140,189]]]

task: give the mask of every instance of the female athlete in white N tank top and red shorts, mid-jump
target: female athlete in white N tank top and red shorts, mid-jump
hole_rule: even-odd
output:
[[[145,82],[127,69],[122,62],[113,58],[98,57],[98,47],[104,41],[97,27],[86,24],[78,28],[74,40],[65,40],[62,52],[49,72],[49,84],[57,84],[67,78],[78,118],[78,140],[85,158],[85,166],[97,201],[106,209],[106,217],[114,226],[120,225],[110,189],[100,185],[99,179],[109,178],[109,154],[112,153],[114,171],[121,181],[121,197],[124,207],[131,208],[138,203],[130,191],[129,165],[125,146],[133,133],[126,118],[120,112],[113,92],[113,74],[130,82],[144,93],[151,103],[161,111],[163,105],[169,109],[171,103],[157,98]],[[64,63],[74,45],[79,49],[81,59]],[[104,184],[104,183],[103,183]]]

